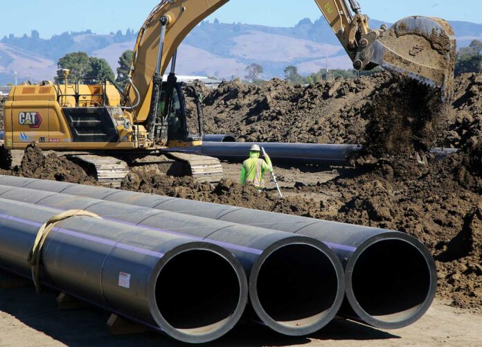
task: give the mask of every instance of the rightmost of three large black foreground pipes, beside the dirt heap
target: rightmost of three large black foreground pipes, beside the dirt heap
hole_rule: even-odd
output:
[[[398,231],[36,179],[0,176],[0,184],[63,191],[316,238],[337,253],[345,269],[349,307],[344,305],[341,314],[376,328],[409,326],[425,314],[434,300],[434,259],[420,241]]]

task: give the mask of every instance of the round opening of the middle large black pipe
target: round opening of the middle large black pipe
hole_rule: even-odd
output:
[[[260,267],[258,299],[276,323],[311,326],[329,314],[337,298],[337,272],[330,258],[309,244],[289,244]]]

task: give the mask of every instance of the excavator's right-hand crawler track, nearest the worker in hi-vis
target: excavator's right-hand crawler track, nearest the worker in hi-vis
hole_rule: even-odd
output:
[[[197,181],[217,183],[223,177],[222,165],[219,159],[202,154],[188,154],[170,152],[168,157],[187,163],[190,167],[190,175]]]

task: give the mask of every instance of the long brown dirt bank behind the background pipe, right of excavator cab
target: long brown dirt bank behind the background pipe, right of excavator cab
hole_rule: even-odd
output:
[[[260,86],[223,82],[204,99],[206,133],[240,141],[360,143],[364,105],[391,83],[389,73],[306,87],[278,79]]]

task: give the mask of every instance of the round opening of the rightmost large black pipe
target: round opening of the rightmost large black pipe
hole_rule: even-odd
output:
[[[413,317],[429,296],[431,273],[425,257],[404,240],[382,240],[364,250],[352,272],[360,307],[384,322]]]

